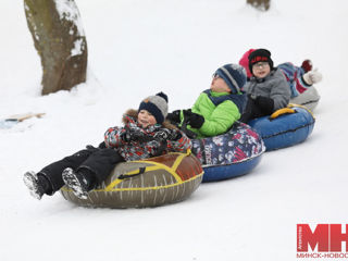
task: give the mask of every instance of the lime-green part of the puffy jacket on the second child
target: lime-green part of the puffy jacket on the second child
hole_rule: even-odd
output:
[[[212,97],[228,96],[228,92],[210,91]],[[188,129],[195,132],[197,138],[212,137],[226,133],[235,121],[239,120],[240,113],[237,105],[229,99],[215,105],[206,92],[200,94],[191,111],[204,117],[204,123],[200,128]],[[184,121],[184,113],[181,112],[181,120]]]

